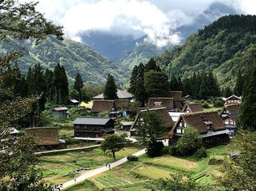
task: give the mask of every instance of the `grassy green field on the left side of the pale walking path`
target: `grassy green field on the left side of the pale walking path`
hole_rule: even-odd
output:
[[[135,147],[128,147],[116,153],[116,159],[121,159],[139,151]],[[62,184],[72,180],[72,172],[80,168],[98,168],[105,163],[114,162],[112,155],[106,155],[100,148],[89,151],[67,152],[60,155],[43,155],[37,167],[41,168],[45,180],[54,184]]]

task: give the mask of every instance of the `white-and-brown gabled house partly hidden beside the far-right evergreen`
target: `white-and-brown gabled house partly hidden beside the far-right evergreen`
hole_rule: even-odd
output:
[[[239,104],[226,104],[220,112],[223,124],[230,130],[231,135],[236,134],[236,121],[238,119]]]

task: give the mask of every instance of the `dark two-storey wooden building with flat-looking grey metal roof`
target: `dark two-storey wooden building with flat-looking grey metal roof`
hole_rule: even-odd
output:
[[[102,138],[115,133],[115,121],[110,117],[77,117],[72,125],[78,138]]]

